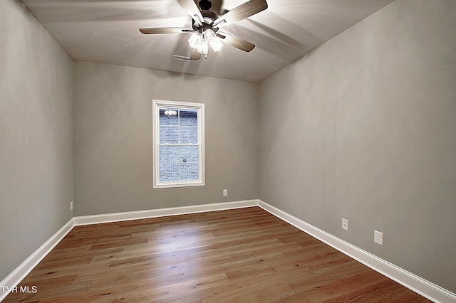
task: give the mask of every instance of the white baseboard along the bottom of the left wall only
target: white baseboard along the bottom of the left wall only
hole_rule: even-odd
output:
[[[11,289],[11,287],[16,287],[19,283],[28,275],[33,268],[38,265],[41,260],[43,260],[46,255],[48,255],[51,250],[56,247],[56,245],[65,237],[70,230],[74,227],[74,220],[68,221],[63,227],[57,231],[49,240],[46,241],[43,245],[41,245],[38,250],[33,252],[33,254],[27,258],[24,262],[22,262],[19,267],[16,268],[11,274],[8,275],[3,281],[0,282],[2,289],[0,289],[0,302],[9,294],[7,289]]]

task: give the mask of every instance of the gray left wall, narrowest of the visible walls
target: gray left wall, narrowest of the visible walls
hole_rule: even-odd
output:
[[[0,1],[0,281],[73,217],[73,61]]]

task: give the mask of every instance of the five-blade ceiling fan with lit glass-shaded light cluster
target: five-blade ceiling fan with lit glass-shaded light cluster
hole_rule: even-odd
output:
[[[144,34],[156,33],[193,33],[188,42],[192,47],[192,54],[190,57],[181,55],[173,55],[177,60],[199,60],[202,55],[207,59],[207,52],[211,46],[214,52],[220,50],[223,43],[234,46],[239,50],[249,52],[254,49],[255,45],[252,42],[219,31],[220,28],[228,26],[229,24],[249,18],[254,14],[267,9],[268,4],[266,0],[249,0],[244,4],[237,6],[232,11],[228,11],[221,16],[218,16],[213,11],[209,11],[212,3],[209,0],[200,0],[199,8],[194,0],[178,0],[180,5],[192,17],[192,28],[140,28],[140,32]]]

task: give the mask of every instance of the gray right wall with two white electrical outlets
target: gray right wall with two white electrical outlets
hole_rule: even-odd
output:
[[[455,33],[456,1],[397,0],[261,83],[259,196],[452,292]]]

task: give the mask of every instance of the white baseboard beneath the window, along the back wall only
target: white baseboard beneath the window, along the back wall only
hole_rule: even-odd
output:
[[[233,201],[224,203],[201,204],[172,208],[151,209],[148,211],[128,211],[124,213],[107,213],[103,215],[74,217],[75,225],[109,223],[125,220],[138,220],[164,216],[185,215],[187,213],[204,213],[207,211],[223,211],[233,208],[258,206],[258,200]]]

